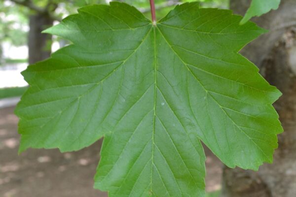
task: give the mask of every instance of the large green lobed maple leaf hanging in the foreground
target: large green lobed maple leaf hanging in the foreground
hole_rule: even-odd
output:
[[[78,12],[45,31],[74,44],[23,72],[20,152],[104,136],[95,188],[110,197],[204,196],[201,141],[229,167],[272,162],[281,93],[238,54],[264,30],[196,2],[157,26],[125,3]]]

